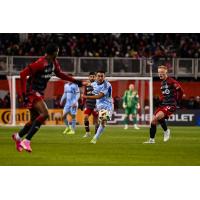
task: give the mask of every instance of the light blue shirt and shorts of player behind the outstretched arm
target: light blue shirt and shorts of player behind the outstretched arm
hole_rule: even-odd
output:
[[[60,100],[62,104],[65,100],[64,113],[71,113],[75,115],[78,109],[78,99],[80,98],[80,90],[77,84],[75,83],[66,83],[64,86],[64,93]],[[76,107],[72,107],[76,105]]]

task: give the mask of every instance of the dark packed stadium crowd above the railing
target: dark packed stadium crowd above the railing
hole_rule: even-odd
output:
[[[59,56],[200,57],[200,34],[183,33],[0,34],[0,55],[40,56],[49,42],[59,45]]]

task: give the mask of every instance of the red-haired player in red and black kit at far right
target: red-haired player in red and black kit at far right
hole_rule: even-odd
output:
[[[150,139],[147,142],[144,142],[149,144],[155,143],[155,134],[158,122],[164,130],[164,142],[169,140],[170,129],[167,128],[165,119],[168,119],[169,116],[176,111],[177,106],[179,105],[183,96],[182,87],[176,80],[168,76],[166,66],[161,65],[158,67],[158,75],[162,80],[162,95],[160,98],[160,106],[155,111],[151,121]]]

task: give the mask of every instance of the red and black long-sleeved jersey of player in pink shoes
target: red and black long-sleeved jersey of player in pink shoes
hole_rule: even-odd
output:
[[[29,76],[28,80],[26,79],[27,76]],[[55,59],[53,62],[48,62],[46,56],[43,56],[20,72],[22,94],[39,92],[43,95],[47,83],[52,76],[71,82],[76,81],[62,72],[58,60]]]

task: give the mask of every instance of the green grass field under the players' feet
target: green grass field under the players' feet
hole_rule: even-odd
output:
[[[11,135],[18,127],[0,127],[1,166],[199,166],[200,128],[170,127],[172,137],[163,142],[158,128],[156,144],[143,144],[148,128],[139,131],[106,127],[97,144],[75,135],[62,135],[63,127],[42,127],[32,140],[32,153],[19,153]]]

